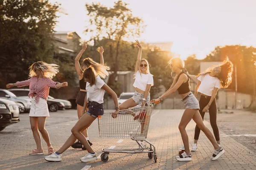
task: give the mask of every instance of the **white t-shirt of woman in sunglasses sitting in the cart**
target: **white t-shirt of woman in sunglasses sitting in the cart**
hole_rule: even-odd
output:
[[[135,74],[135,81],[133,86],[139,88],[142,91],[146,90],[147,85],[154,85],[153,75],[152,74],[142,74],[140,71],[137,71]]]

